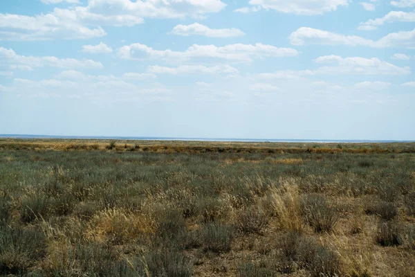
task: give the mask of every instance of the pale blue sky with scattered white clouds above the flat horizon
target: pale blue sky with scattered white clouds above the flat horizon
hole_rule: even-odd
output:
[[[415,141],[415,0],[0,0],[0,134]]]

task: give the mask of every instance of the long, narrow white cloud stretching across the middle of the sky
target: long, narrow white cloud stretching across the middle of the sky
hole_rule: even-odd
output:
[[[216,58],[234,62],[251,62],[254,58],[296,56],[293,48],[277,48],[266,44],[228,44],[225,46],[193,44],[185,51],[155,50],[144,44],[131,44],[118,49],[118,55],[129,60],[183,61],[201,58]]]

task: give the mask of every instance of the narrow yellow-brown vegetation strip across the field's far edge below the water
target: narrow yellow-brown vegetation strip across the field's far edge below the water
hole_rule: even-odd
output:
[[[0,150],[113,150],[118,152],[165,152],[165,153],[258,153],[258,154],[299,154],[299,153],[415,153],[415,143],[218,143],[178,141],[115,141],[111,148],[109,141],[86,140],[0,140]],[[221,145],[222,144],[222,145]],[[111,148],[111,149],[110,149]]]

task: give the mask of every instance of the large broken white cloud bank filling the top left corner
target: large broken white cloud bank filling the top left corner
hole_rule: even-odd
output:
[[[102,37],[107,33],[101,26],[134,26],[142,24],[144,17],[203,17],[225,6],[221,0],[91,0],[86,6],[54,8],[50,13],[35,16],[0,14],[0,40]]]

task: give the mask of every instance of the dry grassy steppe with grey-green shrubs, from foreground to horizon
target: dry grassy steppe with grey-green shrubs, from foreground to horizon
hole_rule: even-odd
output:
[[[415,276],[415,144],[1,139],[0,274]]]

